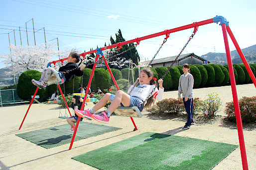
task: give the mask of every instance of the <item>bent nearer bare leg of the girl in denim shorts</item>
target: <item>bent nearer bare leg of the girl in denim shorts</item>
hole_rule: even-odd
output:
[[[122,90],[119,90],[116,93],[116,96],[115,96],[114,100],[112,101],[112,103],[111,103],[110,107],[108,108],[108,110],[111,113],[113,113],[119,106],[121,106],[120,105],[121,103],[125,107],[130,106],[130,96],[127,93],[123,92]]]

